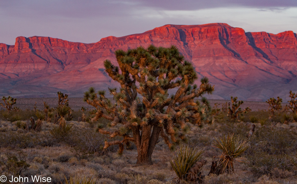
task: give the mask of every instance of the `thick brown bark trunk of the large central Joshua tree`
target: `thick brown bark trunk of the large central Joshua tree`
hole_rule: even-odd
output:
[[[152,154],[159,138],[160,128],[157,125],[153,126],[153,131],[151,131],[151,128],[151,125],[144,126],[141,135],[136,136],[138,137],[136,139],[137,165],[153,164]]]

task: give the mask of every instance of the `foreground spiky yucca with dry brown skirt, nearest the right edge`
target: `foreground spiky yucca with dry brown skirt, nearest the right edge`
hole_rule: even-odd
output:
[[[215,138],[214,147],[223,151],[222,155],[218,156],[218,160],[216,160],[217,165],[215,174],[219,175],[233,173],[235,158],[240,158],[240,155],[249,148],[249,145],[238,135],[228,134],[227,137],[224,135],[221,138]]]

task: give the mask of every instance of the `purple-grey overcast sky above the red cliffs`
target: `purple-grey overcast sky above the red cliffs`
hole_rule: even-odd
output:
[[[17,36],[93,43],[165,24],[214,22],[297,32],[297,0],[0,0],[0,43],[8,45]]]

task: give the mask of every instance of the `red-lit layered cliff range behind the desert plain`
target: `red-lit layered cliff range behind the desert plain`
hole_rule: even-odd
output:
[[[103,61],[113,51],[137,46],[175,45],[199,76],[215,85],[214,99],[265,100],[297,91],[297,36],[245,32],[228,24],[165,25],[140,34],[108,36],[91,44],[50,37],[17,37],[14,46],[0,44],[0,94],[53,96],[64,91],[82,97],[94,86],[117,85]],[[284,100],[285,101],[285,100]]]

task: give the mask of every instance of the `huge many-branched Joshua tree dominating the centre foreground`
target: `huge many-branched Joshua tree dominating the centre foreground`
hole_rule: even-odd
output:
[[[111,121],[108,128],[119,127],[113,131],[103,123],[98,124],[98,132],[110,138],[122,137],[122,140],[106,141],[104,148],[117,144],[121,154],[124,144],[133,142],[138,151],[137,164],[152,164],[151,156],[159,136],[169,148],[174,148],[174,143],[186,139],[189,123],[201,125],[213,121],[209,118],[209,102],[202,95],[211,94],[214,87],[207,78],[201,79],[200,86],[194,83],[198,78],[194,67],[184,61],[175,46],[117,50],[115,56],[119,67],[104,61],[105,71],[121,86],[119,91],[109,88],[115,103],[103,90],[96,93],[90,88],[84,94],[84,100],[96,108],[91,122],[103,117]],[[169,90],[174,88],[176,93],[169,95]],[[194,102],[194,98],[200,98],[202,103]]]

